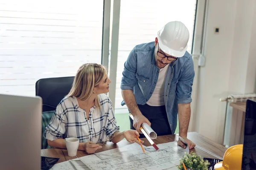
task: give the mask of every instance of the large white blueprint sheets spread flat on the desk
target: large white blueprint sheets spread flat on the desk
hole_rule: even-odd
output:
[[[55,164],[52,170],[177,170],[180,158],[189,152],[177,142],[144,147],[137,143]]]

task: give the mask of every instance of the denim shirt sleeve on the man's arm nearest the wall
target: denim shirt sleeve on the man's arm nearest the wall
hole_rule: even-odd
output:
[[[195,77],[194,63],[192,57],[189,57],[189,59],[186,61],[184,67],[181,70],[181,73],[183,74],[180,76],[180,79],[177,82],[176,89],[177,103],[190,103],[192,102],[191,93],[193,79]]]

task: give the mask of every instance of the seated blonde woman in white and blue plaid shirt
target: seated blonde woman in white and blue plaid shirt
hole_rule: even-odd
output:
[[[47,125],[44,136],[49,146],[66,148],[64,138],[80,139],[78,150],[94,153],[102,148],[99,144],[122,139],[142,142],[136,130],[119,132],[112,102],[105,93],[109,91],[110,79],[106,69],[96,63],[82,65],[74,79],[69,94],[58,104],[55,114]]]

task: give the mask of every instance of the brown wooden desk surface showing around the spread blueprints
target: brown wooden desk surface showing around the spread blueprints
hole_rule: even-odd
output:
[[[188,133],[188,138],[190,140],[192,140],[193,142],[195,142],[195,144],[197,144],[198,146],[201,146],[204,149],[207,149],[210,152],[215,153],[216,155],[221,156],[221,157],[224,156],[224,153],[227,150],[227,148],[222,146],[221,144],[217,144],[217,143],[213,142],[212,140],[210,140],[196,132]],[[142,138],[142,140],[144,140],[145,146],[150,146],[150,143],[148,142],[147,139]],[[177,140],[178,140],[178,136],[176,136],[176,135],[166,135],[166,136],[157,136],[157,139],[154,140],[154,142],[155,142],[155,144],[161,144],[161,143],[173,142],[173,141],[177,141]],[[102,152],[105,150],[122,147],[127,144],[130,144],[130,143],[128,143],[126,140],[122,140],[122,141],[118,142],[117,144],[108,142],[101,149],[97,150],[97,152]],[[194,149],[190,150],[190,152],[195,152],[198,155],[200,155],[202,158],[203,157],[214,158],[214,157],[210,156],[208,153],[206,153],[198,148],[194,148]],[[77,151],[77,157],[82,157],[82,156],[87,156],[87,155],[88,154],[85,153],[84,151],[81,151],[81,150]],[[75,156],[73,156],[73,157],[68,156],[66,149],[57,149],[57,148],[42,149],[41,156],[60,158],[60,160],[57,163],[76,158]]]

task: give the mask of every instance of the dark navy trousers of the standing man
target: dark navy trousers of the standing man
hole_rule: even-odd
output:
[[[138,105],[141,113],[151,122],[151,128],[157,133],[157,136],[170,135],[172,130],[170,128],[165,106],[150,106],[150,105]],[[129,117],[130,118],[130,117]],[[130,128],[133,127],[133,120],[130,118]],[[140,134],[140,138],[145,138],[143,134]]]

